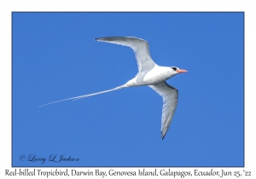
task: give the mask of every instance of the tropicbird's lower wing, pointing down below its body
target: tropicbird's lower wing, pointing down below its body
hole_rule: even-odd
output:
[[[164,106],[162,111],[161,134],[162,139],[164,139],[166,132],[172,123],[172,118],[177,107],[177,89],[166,84],[166,82],[148,86],[163,97]]]

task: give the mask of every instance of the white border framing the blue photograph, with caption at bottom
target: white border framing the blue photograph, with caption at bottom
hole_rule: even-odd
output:
[[[253,6],[254,5],[254,6]],[[12,12],[14,11],[81,11],[81,12],[92,12],[92,11],[167,11],[167,12],[245,12],[245,167],[235,168],[224,168],[224,170],[236,171],[239,170],[250,170],[252,176],[256,176],[256,140],[255,140],[255,129],[256,122],[253,111],[255,111],[254,101],[255,99],[255,70],[256,64],[255,53],[256,53],[256,13],[255,3],[253,1],[238,1],[238,0],[162,0],[162,1],[104,1],[94,0],[90,3],[86,3],[83,0],[1,0],[0,1],[0,139],[1,153],[0,153],[0,176],[1,178],[7,178],[5,176],[5,170],[15,170],[11,167],[11,18]],[[17,168],[19,169],[19,168]],[[22,169],[22,168],[21,168]],[[32,168],[30,168],[32,170]],[[40,169],[40,168],[36,168]],[[55,168],[42,168],[42,170],[51,170]],[[60,168],[61,169],[61,168]],[[70,168],[75,170],[92,170],[96,168]],[[99,170],[105,170],[108,172],[112,168],[99,168]],[[168,168],[165,168],[168,169]],[[194,169],[199,170],[211,170],[211,168],[171,168],[172,170],[190,170],[194,173]],[[221,170],[222,168],[213,168],[213,170]],[[65,170],[62,168],[61,170]],[[138,170],[138,168],[115,168],[114,170]],[[153,168],[148,170],[154,170]],[[160,170],[158,168],[158,170]],[[252,177],[251,176],[251,177]],[[14,176],[13,176],[14,177]],[[22,177],[22,176],[16,176]],[[26,177],[26,176],[25,176]],[[46,177],[46,176],[43,176]],[[63,176],[55,176],[62,178]],[[73,178],[73,176],[70,176]],[[86,177],[86,176],[82,176]],[[90,178],[99,178],[100,176],[92,176]],[[119,176],[107,176],[108,178],[117,178]],[[131,176],[126,176],[130,177]],[[154,176],[148,176],[153,178]],[[158,176],[160,177],[160,176]],[[173,177],[173,176],[163,176]],[[180,176],[177,176],[180,177]],[[187,176],[188,177],[188,176]],[[201,176],[200,178],[206,178]],[[241,176],[244,178],[249,176]],[[249,177],[249,178],[251,178]],[[24,178],[24,176],[22,177]],[[186,177],[185,177],[186,178]],[[193,178],[197,178],[194,176]],[[215,178],[211,176],[211,178]],[[235,178],[224,177],[224,178]]]

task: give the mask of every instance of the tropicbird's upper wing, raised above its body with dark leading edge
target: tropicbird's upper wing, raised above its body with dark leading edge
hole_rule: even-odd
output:
[[[148,42],[141,38],[133,37],[109,37],[109,38],[96,38],[96,41],[102,41],[106,43],[116,43],[120,45],[125,45],[131,47],[134,50],[138,71],[140,73],[148,72],[154,68],[154,61],[152,60],[149,49]]]

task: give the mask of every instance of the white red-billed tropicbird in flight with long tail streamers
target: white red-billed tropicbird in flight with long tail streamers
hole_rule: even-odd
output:
[[[164,105],[162,109],[161,119],[161,137],[162,139],[164,139],[164,137],[166,136],[166,132],[169,129],[170,124],[172,123],[172,118],[177,107],[177,89],[173,88],[169,84],[166,84],[166,80],[172,78],[174,75],[177,75],[178,73],[188,71],[179,69],[176,66],[158,66],[156,63],[154,63],[149,54],[148,42],[146,40],[143,40],[142,38],[109,37],[96,38],[95,40],[100,42],[125,45],[133,49],[137,60],[137,75],[135,76],[135,78],[132,78],[126,84],[118,86],[114,89],[104,90],[90,95],[80,95],[77,97],[68,98],[61,101],[75,101],[83,99],[85,97],[89,97],[91,95],[99,95],[113,90],[148,85],[150,88],[155,90],[159,95],[163,97]],[[40,107],[44,107],[55,102],[60,101],[50,102]]]

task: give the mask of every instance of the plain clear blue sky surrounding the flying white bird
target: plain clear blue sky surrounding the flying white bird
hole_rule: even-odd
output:
[[[13,166],[244,165],[244,14],[12,16]],[[167,80],[179,96],[164,140],[162,98],[147,86],[38,108],[133,78],[130,48],[94,41],[111,36],[143,38],[155,63],[189,71]],[[79,161],[27,160],[51,154]]]

